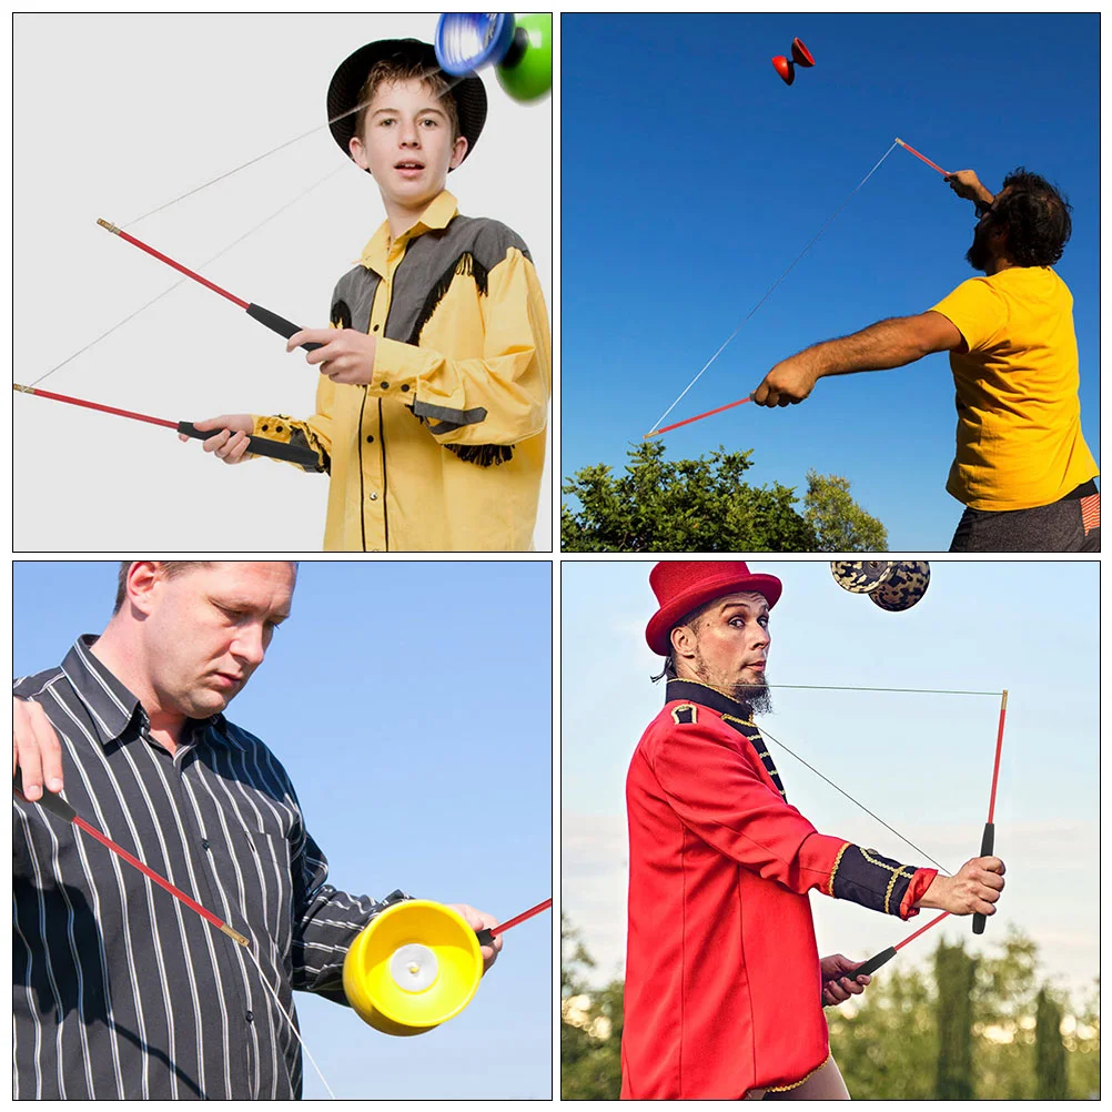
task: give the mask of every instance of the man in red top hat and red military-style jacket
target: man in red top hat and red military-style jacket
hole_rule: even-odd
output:
[[[992,915],[1003,862],[942,876],[820,834],[753,723],[770,705],[780,580],[739,560],[673,560],[649,582],[659,609],[645,635],[668,686],[626,781],[622,1096],[847,1100],[823,1004],[868,977],[841,954],[818,957],[807,892],[902,920],[920,907]]]

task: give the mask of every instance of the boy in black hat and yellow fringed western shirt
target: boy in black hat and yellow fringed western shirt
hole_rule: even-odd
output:
[[[378,185],[386,221],[337,284],[306,421],[198,421],[226,463],[247,436],[316,450],[330,475],[326,550],[527,550],[545,458],[552,353],[525,244],[458,215],[447,175],[486,119],[477,77],[449,83],[430,46],[370,42],[336,71],[328,117],[339,147]]]

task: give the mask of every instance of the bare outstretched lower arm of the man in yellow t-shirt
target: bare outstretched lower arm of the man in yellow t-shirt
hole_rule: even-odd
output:
[[[892,317],[852,336],[815,344],[777,363],[753,391],[753,400],[758,406],[794,405],[827,375],[890,370],[936,351],[955,351],[964,346],[962,334],[941,312]]]

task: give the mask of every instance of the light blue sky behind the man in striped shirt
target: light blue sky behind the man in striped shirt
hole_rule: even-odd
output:
[[[14,564],[14,674],[103,628],[117,567]],[[553,894],[550,662],[547,563],[302,563],[229,716],[289,771],[331,883],[507,920]],[[550,913],[514,927],[470,1005],[416,1039],[298,993],[302,1037],[340,1098],[547,1098],[553,952]],[[308,1062],[305,1095],[327,1095]]]

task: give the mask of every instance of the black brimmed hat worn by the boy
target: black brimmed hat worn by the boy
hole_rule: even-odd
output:
[[[358,112],[351,111],[359,103],[359,93],[375,62],[397,59],[405,64],[418,64],[427,70],[439,70],[436,51],[428,42],[419,39],[379,39],[360,47],[354,54],[340,62],[328,86],[328,127],[340,150],[348,158],[348,141],[355,135]],[[454,78],[440,70],[440,76],[451,85],[451,96],[459,113],[459,133],[467,140],[466,159],[475,149],[486,122],[486,89],[483,80],[475,75]],[[348,115],[344,115],[347,112]],[[337,119],[337,117],[340,117]]]

